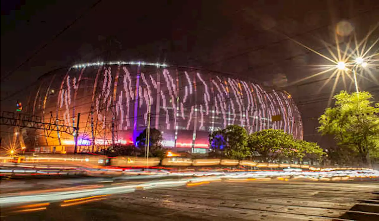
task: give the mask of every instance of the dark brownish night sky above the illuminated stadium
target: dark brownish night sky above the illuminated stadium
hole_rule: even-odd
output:
[[[27,87],[58,67],[103,60],[161,61],[287,90],[302,113],[304,139],[327,148],[332,142],[315,127],[334,80],[319,88],[331,73],[291,83],[318,72],[313,64],[330,63],[290,38],[329,55],[323,41],[336,45],[338,22],[348,21],[360,41],[379,22],[378,9],[376,0],[2,1],[0,110],[14,111],[16,100],[28,95]],[[368,44],[378,33],[371,34]],[[342,45],[348,39],[338,37]],[[374,46],[370,53],[377,50]],[[362,79],[360,89],[379,100],[374,80]],[[347,82],[346,89],[353,91]],[[338,81],[336,91],[344,88]]]

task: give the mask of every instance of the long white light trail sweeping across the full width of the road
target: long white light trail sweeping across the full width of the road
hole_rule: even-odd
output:
[[[125,183],[121,185],[107,185],[93,187],[89,189],[77,188],[77,190],[43,192],[39,194],[16,193],[13,195],[1,196],[0,207],[9,207],[19,204],[43,203],[43,202],[83,202],[83,200],[93,200],[104,196],[132,193],[136,189],[149,190],[155,188],[172,188],[180,186],[194,186],[208,184],[216,181],[247,182],[247,181],[268,181],[277,180],[288,181],[307,179],[311,181],[337,181],[354,178],[379,177],[379,171],[373,169],[366,170],[339,170],[339,171],[257,171],[257,172],[182,172],[175,173],[175,176],[187,176],[182,179],[146,181],[141,183]],[[188,176],[191,176],[188,178]],[[30,192],[29,192],[30,193]],[[84,203],[84,202],[83,202]],[[62,204],[63,206],[65,204]],[[74,205],[74,204],[72,204]]]

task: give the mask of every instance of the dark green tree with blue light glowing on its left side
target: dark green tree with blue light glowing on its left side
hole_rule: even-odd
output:
[[[209,136],[210,150],[218,157],[243,159],[250,155],[247,147],[247,132],[238,125],[228,125]]]

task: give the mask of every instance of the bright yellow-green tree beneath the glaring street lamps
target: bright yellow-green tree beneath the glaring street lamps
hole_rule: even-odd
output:
[[[341,148],[354,150],[363,165],[371,164],[370,154],[379,154],[379,103],[373,103],[372,97],[365,91],[341,91],[334,96],[334,107],[326,108],[319,118],[319,132],[333,135]]]

